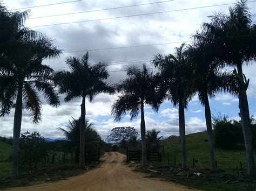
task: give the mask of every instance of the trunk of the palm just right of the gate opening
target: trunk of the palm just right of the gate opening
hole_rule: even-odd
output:
[[[144,118],[144,102],[141,103],[141,119],[140,119],[140,134],[142,135],[142,166],[147,166],[147,156],[146,156],[146,124]]]

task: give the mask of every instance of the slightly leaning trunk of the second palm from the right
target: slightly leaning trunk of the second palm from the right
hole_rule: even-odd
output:
[[[212,172],[216,172],[217,167],[215,164],[213,139],[212,139],[212,115],[211,115],[211,109],[210,109],[207,93],[205,94],[205,121],[206,121],[208,145],[209,145],[210,156],[211,156]]]

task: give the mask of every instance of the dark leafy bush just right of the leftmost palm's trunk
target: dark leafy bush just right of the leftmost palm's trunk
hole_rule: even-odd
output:
[[[35,172],[48,156],[46,141],[39,132],[21,133],[19,139],[19,172]]]

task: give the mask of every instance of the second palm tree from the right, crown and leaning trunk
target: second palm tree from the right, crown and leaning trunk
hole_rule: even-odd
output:
[[[232,73],[221,70],[219,61],[206,54],[208,46],[194,44],[189,47],[189,59],[193,65],[193,83],[197,90],[199,101],[205,107],[205,121],[210,149],[212,172],[217,171],[213,149],[212,118],[208,97],[213,98],[219,91],[234,93]],[[210,48],[211,49],[211,48]]]

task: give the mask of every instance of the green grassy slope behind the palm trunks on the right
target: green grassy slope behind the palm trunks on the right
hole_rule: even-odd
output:
[[[210,151],[208,149],[207,132],[193,133],[186,136],[187,164],[192,167],[193,158],[198,160],[204,168],[211,168]],[[170,163],[174,163],[174,155],[176,155],[176,164],[181,164],[181,145],[179,137],[173,137],[163,141],[165,153],[169,152]],[[237,171],[240,170],[240,162],[242,169],[247,170],[246,152],[245,150],[221,150],[214,149],[215,160],[219,171]],[[254,152],[256,158],[256,152]],[[164,160],[167,160],[165,154]]]

